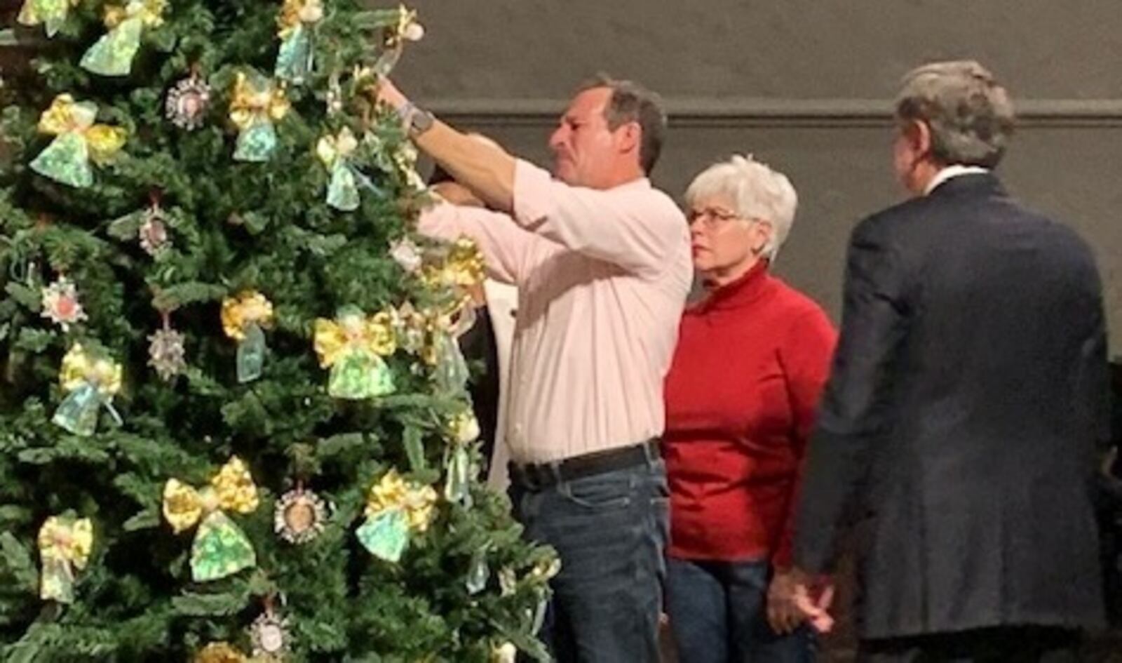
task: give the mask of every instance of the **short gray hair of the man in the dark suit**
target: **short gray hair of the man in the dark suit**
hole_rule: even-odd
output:
[[[1013,135],[1013,103],[993,74],[974,61],[936,62],[909,72],[896,117],[931,128],[931,156],[944,165],[993,168]]]

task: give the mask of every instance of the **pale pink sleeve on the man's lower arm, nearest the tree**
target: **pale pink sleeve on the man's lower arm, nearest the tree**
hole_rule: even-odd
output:
[[[450,241],[470,237],[487,260],[488,276],[512,284],[525,275],[531,245],[541,241],[508,214],[443,201],[421,213],[417,232]]]

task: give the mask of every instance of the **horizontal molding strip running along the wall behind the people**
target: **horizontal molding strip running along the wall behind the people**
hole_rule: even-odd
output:
[[[565,107],[555,99],[430,99],[441,117],[475,126],[552,125]],[[892,121],[888,99],[666,98],[672,127],[883,127]],[[1015,102],[1026,128],[1122,127],[1122,99],[1028,99]]]

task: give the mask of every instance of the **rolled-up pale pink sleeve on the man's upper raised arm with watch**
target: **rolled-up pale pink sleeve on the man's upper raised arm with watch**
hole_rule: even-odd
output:
[[[570,186],[523,160],[515,167],[514,218],[526,230],[640,276],[660,274],[688,241],[686,218],[656,190]]]

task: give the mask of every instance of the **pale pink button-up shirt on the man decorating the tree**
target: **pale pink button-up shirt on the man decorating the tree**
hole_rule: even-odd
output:
[[[438,203],[417,229],[467,234],[518,286],[506,400],[515,462],[644,442],[665,424],[663,379],[690,288],[689,229],[645,179],[570,186],[519,160],[514,213]]]

